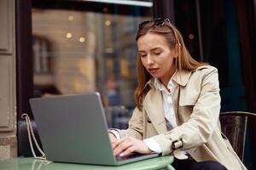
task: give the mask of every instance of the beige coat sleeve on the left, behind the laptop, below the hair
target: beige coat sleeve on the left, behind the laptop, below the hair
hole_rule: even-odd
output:
[[[136,139],[143,139],[143,112],[137,108],[133,111],[129,127],[125,130],[118,130],[121,138],[131,136]]]

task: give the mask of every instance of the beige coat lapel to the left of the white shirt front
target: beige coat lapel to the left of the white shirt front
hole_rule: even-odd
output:
[[[166,133],[166,119],[161,93],[158,90],[150,90],[145,96],[143,106],[156,131],[158,133]]]

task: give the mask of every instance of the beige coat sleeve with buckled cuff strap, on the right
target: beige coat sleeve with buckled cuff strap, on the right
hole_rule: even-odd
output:
[[[189,120],[175,127],[172,131],[153,137],[160,144],[163,155],[168,155],[173,151],[172,144],[174,141],[182,140],[181,150],[189,150],[201,144],[206,144],[218,126],[220,111],[218,71],[214,68],[203,72],[201,92]]]

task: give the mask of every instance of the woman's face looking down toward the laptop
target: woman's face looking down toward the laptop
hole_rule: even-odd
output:
[[[165,37],[150,32],[138,38],[137,48],[149,74],[167,85],[176,71],[173,60],[177,57],[177,50],[170,48]]]

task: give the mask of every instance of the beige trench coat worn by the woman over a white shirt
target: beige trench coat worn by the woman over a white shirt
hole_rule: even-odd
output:
[[[205,65],[195,71],[177,71],[173,81],[177,82],[172,96],[177,127],[167,132],[161,93],[149,81],[151,89],[143,99],[143,111],[133,111],[128,129],[119,130],[121,137],[152,137],[163,156],[173,153],[172,141],[182,139],[181,150],[188,150],[195,161],[212,160],[230,170],[247,169],[221,135],[217,69]]]

